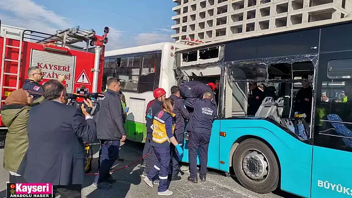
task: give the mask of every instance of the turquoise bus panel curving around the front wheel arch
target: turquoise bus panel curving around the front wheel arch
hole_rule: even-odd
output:
[[[258,136],[267,141],[277,154],[281,168],[281,189],[303,197],[310,197],[312,146],[299,141],[265,120],[221,120],[220,170],[229,172],[230,150],[236,140],[245,135]],[[217,149],[209,147],[209,150]]]

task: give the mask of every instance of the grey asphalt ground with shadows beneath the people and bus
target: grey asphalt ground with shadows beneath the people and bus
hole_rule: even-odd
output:
[[[91,173],[96,172],[98,145],[93,145],[93,167]],[[124,167],[138,160],[142,155],[143,144],[127,141],[121,146],[120,156],[124,158],[123,162],[115,162],[115,168]],[[3,149],[0,149],[0,164],[3,164]],[[83,198],[156,198],[157,187],[150,188],[143,181],[140,175],[143,172],[140,163],[136,163],[128,168],[116,171],[112,174],[117,182],[113,184],[111,190],[100,190],[92,186],[95,176],[86,176],[83,185]],[[174,181],[170,184],[170,190],[174,191],[173,198],[296,198],[295,196],[283,193],[281,191],[260,195],[248,191],[236,181],[236,178],[221,175],[221,173],[210,170],[207,174],[207,181],[197,184],[187,181],[189,176],[188,167],[182,166],[182,180]],[[0,168],[0,198],[5,198],[6,181],[8,181],[8,172]]]

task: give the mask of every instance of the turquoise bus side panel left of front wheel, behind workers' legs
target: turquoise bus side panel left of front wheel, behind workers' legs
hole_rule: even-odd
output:
[[[220,120],[215,120],[213,128],[211,129],[209,150],[208,150],[208,167],[219,169],[219,133],[220,133]],[[181,161],[188,163],[188,141],[183,140],[182,144],[183,155]],[[199,152],[197,154],[197,164],[199,165]]]

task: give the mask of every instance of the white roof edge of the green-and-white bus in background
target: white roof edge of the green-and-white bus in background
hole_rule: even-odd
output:
[[[131,54],[131,53],[163,50],[165,43],[173,43],[173,42],[155,43],[155,44],[142,45],[142,46],[137,46],[137,47],[132,47],[132,48],[110,50],[110,51],[106,51],[104,56],[108,57],[108,56],[115,56],[115,55],[122,55],[122,54]]]

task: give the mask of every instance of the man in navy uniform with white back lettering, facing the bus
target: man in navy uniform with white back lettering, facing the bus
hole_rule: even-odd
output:
[[[188,160],[190,176],[188,181],[197,183],[197,152],[199,149],[200,173],[199,178],[205,181],[206,167],[208,163],[208,148],[211,128],[216,116],[216,105],[213,94],[205,92],[202,99],[185,99],[184,105],[194,109],[190,115],[186,131],[189,134]]]

